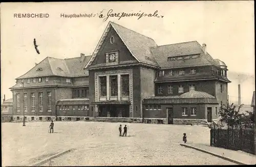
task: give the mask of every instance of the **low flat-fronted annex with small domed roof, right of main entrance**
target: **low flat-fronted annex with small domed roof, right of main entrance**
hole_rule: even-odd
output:
[[[204,124],[218,119],[218,100],[205,92],[190,91],[179,96],[146,97],[143,118],[166,124]]]

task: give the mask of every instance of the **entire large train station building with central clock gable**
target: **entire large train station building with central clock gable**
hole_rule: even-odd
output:
[[[110,21],[91,56],[46,58],[18,77],[11,88],[13,110],[15,116],[25,110],[39,120],[211,122],[227,103],[227,71],[206,44],[158,46]]]

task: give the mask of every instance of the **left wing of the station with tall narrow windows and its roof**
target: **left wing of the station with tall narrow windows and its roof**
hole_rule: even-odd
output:
[[[50,121],[56,117],[68,120],[66,117],[70,115],[58,107],[59,100],[88,98],[88,71],[82,67],[89,59],[90,56],[82,53],[78,58],[64,60],[47,57],[16,78],[16,85],[10,88],[14,103],[13,119],[23,120],[25,112],[27,121]]]

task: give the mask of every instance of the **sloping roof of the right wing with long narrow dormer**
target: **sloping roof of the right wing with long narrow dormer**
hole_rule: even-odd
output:
[[[204,54],[202,46],[197,41],[151,47],[151,51],[154,57],[157,58],[156,60],[161,66],[161,69],[208,65],[218,66],[214,62],[214,59],[212,59],[212,57],[208,53]],[[185,55],[199,55],[199,57],[195,59],[190,58],[183,60],[167,61],[167,58],[169,57],[180,57]]]

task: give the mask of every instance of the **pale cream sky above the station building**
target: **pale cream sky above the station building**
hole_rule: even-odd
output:
[[[146,13],[160,17],[109,17],[112,13]],[[48,18],[14,18],[18,13],[47,13]],[[61,14],[95,17],[61,18]],[[163,16],[163,17],[161,17]],[[158,45],[198,41],[207,52],[224,61],[232,82],[228,93],[238,98],[237,73],[242,78],[242,103],[250,104],[254,79],[254,1],[192,2],[73,2],[1,3],[1,99],[12,98],[15,78],[46,57],[73,58],[91,55],[109,21],[151,37]],[[33,39],[40,54],[37,54]],[[234,75],[233,75],[234,74]]]

